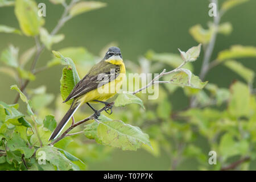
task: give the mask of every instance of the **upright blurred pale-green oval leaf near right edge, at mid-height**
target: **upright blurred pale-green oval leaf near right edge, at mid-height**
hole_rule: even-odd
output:
[[[250,90],[248,86],[237,81],[231,86],[230,92],[229,113],[237,118],[248,116],[250,113]]]

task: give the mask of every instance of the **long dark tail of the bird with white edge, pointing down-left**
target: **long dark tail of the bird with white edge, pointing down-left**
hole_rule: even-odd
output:
[[[71,107],[67,111],[67,113],[64,115],[64,117],[61,119],[59,125],[57,125],[56,129],[51,134],[51,137],[49,140],[55,139],[59,133],[64,129],[65,125],[68,123],[69,119],[73,116],[73,114],[76,112],[76,110],[81,105],[81,102],[73,101]]]

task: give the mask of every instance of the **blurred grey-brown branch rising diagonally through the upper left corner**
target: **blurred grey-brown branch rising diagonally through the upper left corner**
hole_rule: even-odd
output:
[[[61,15],[61,18],[59,20],[59,22],[57,23],[57,25],[55,26],[55,28],[53,28],[51,35],[55,35],[61,27],[64,26],[65,22],[67,22],[69,19],[71,19],[72,17],[70,15],[68,15],[68,11],[71,9],[71,7],[73,5],[75,5],[76,2],[78,2],[80,0],[72,0],[71,3],[67,6],[63,5],[65,7],[65,10],[63,12],[63,14]],[[36,73],[38,73],[35,69],[36,67],[36,63],[38,63],[39,57],[41,55],[41,53],[43,52],[43,50],[46,48],[46,46],[44,46],[44,44],[40,45],[39,40],[37,37],[35,37],[35,44],[36,44],[36,56],[35,59],[32,61],[31,64],[31,68],[30,71],[35,75]],[[20,86],[20,90],[23,92],[23,90],[27,87],[28,83],[30,82],[30,80],[26,80],[24,82],[24,84],[22,84]],[[19,93],[17,94],[17,96],[15,97],[14,100],[14,104],[16,104],[19,101]]]

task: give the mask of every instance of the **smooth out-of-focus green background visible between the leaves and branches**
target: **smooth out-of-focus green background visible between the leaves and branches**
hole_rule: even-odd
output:
[[[177,48],[187,50],[196,46],[197,43],[189,35],[188,29],[197,23],[207,28],[207,22],[212,19],[208,16],[209,1],[206,0],[102,0],[102,2],[108,3],[108,6],[76,16],[66,23],[58,32],[65,34],[65,39],[54,45],[52,49],[82,46],[97,55],[108,43],[116,42],[125,60],[138,61],[138,57],[144,55],[148,49],[153,49],[155,52],[177,53]],[[47,11],[45,27],[51,31],[60,18],[63,7],[52,5],[49,1],[44,3]],[[229,36],[218,34],[213,59],[219,51],[228,49],[234,44],[256,46],[255,10],[256,1],[249,1],[234,7],[224,15],[221,22],[232,23],[233,32]],[[0,24],[19,27],[14,15],[14,7],[0,8]],[[0,33],[0,51],[9,44],[19,47],[20,52],[23,52],[34,46],[34,39]],[[44,50],[37,67],[45,65],[51,57],[51,53]],[[202,56],[193,63],[195,75],[199,75],[201,63]],[[253,59],[243,59],[241,63],[256,70]],[[48,93],[59,93],[61,70],[61,66],[57,66],[39,73],[36,76],[37,80],[30,82],[28,87],[36,88],[43,83],[47,86]],[[208,73],[205,80],[227,88],[235,77],[237,78],[235,73],[219,65]],[[16,92],[10,90],[10,85],[13,85],[14,81],[2,73],[0,73],[0,81],[0,100],[11,104],[16,96]],[[170,102],[173,110],[184,109],[188,104],[183,92],[175,92]],[[191,160],[178,169],[193,169],[193,162]],[[170,168],[170,159],[163,151],[158,158],[155,158],[144,150],[137,152],[115,150],[111,160],[89,162],[88,167],[88,169],[109,170],[165,170]]]

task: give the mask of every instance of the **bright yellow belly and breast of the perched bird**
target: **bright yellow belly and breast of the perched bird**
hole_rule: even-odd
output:
[[[93,100],[106,101],[113,97],[122,86],[123,77],[125,76],[124,64],[121,65],[120,73],[121,74],[119,74],[115,80],[110,81],[108,84],[105,84],[95,90],[91,90],[90,92],[84,94],[84,96],[81,96],[79,101],[81,101],[82,104],[86,102],[98,104],[98,102],[94,102]]]

